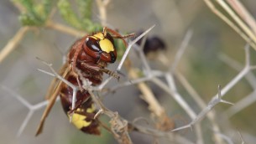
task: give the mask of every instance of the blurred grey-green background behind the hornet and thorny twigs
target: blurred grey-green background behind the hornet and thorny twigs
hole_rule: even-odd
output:
[[[256,2],[254,0],[243,0],[245,8],[256,15]],[[93,21],[99,22],[97,4],[92,3]],[[76,5],[74,6],[76,7]],[[0,49],[8,43],[9,39],[17,33],[22,24],[18,20],[20,15],[12,1],[2,0],[0,2]],[[55,13],[53,21],[67,25]],[[178,69],[190,82],[201,99],[206,103],[217,94],[217,85],[227,85],[236,75],[238,70],[221,58],[228,56],[238,64],[244,65],[244,46],[246,42],[229,28],[226,23],[217,18],[206,4],[199,0],[112,0],[107,6],[107,24],[111,28],[117,28],[120,32],[131,33],[144,31],[155,24],[150,36],[157,36],[165,42],[165,56],[170,60],[180,47],[185,33],[191,29],[193,35],[182,56]],[[39,72],[37,69],[48,68],[39,60],[39,57],[53,64],[55,69],[60,69],[62,54],[70,48],[71,44],[78,39],[69,34],[60,33],[52,28],[38,28],[24,35],[20,44],[0,64],[1,86],[13,90],[28,100],[31,105],[38,104],[44,100],[44,95],[52,77]],[[250,51],[252,63],[255,52]],[[134,62],[138,62],[135,55]],[[158,59],[149,59],[152,69],[166,70],[166,64]],[[139,66],[139,64],[138,64]],[[109,69],[115,69],[117,64],[112,64]],[[123,70],[125,74],[125,70]],[[122,81],[124,81],[125,78]],[[108,85],[117,85],[116,80]],[[178,83],[179,84],[179,83]],[[170,95],[165,94],[157,86],[148,83],[159,102],[164,106],[166,113],[177,121],[177,126],[184,126],[190,120],[180,106]],[[196,113],[201,111],[181,85],[177,85],[180,95],[184,97]],[[236,103],[253,91],[247,80],[241,80],[230,90],[224,99]],[[140,92],[136,86],[128,86],[117,90],[112,95],[104,98],[104,103],[112,111],[118,111],[128,121],[133,121],[139,116],[150,118],[147,104],[139,97]],[[222,114],[231,105],[217,105],[217,124],[222,127],[223,133],[239,143],[238,131],[242,132],[243,138],[248,143],[256,141],[255,109],[256,105],[248,105],[243,111],[222,121]],[[21,136],[17,137],[19,127],[28,115],[29,109],[20,101],[15,99],[7,90],[0,89],[0,143],[55,143],[55,144],[80,144],[80,143],[117,143],[112,135],[102,130],[102,136],[89,136],[70,125],[67,117],[62,111],[60,102],[56,102],[50,116],[44,125],[42,135],[35,137],[35,131],[44,108],[34,111],[29,124],[24,128]],[[224,117],[225,118],[225,117]],[[224,119],[223,118],[223,119]],[[104,119],[104,117],[103,117]],[[107,118],[106,118],[107,121]],[[202,121],[202,131],[212,133],[208,121]],[[178,134],[187,136],[191,141],[196,141],[194,133],[190,130],[179,131]],[[132,133],[134,143],[152,142],[151,136]],[[205,137],[206,143],[214,143],[212,135]],[[165,143],[165,141],[160,142]]]

